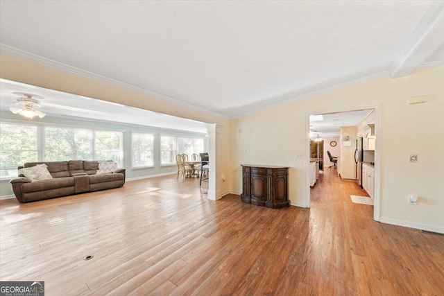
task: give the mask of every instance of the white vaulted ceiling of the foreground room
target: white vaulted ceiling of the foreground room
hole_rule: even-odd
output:
[[[443,7],[1,0],[0,49],[234,118],[350,82],[443,66]]]

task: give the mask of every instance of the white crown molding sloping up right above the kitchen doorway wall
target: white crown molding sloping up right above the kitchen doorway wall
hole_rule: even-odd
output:
[[[333,91],[338,90],[338,89],[343,89],[345,87],[350,87],[352,85],[358,85],[359,83],[367,82],[367,81],[370,81],[370,80],[375,80],[377,78],[381,78],[381,77],[384,77],[384,76],[388,76],[388,71],[381,71],[381,72],[378,72],[378,73],[371,74],[369,76],[364,76],[364,77],[357,78],[357,79],[354,79],[354,80],[350,80],[350,81],[346,81],[346,82],[341,82],[341,83],[339,83],[337,85],[332,85],[330,87],[324,87],[323,89],[318,89],[318,90],[316,90],[314,92],[308,92],[306,94],[301,94],[299,96],[293,96],[292,98],[289,98],[289,99],[284,100],[284,101],[280,101],[278,103],[273,103],[273,104],[269,104],[269,105],[266,105],[266,106],[262,106],[262,107],[254,109],[254,110],[250,110],[248,112],[243,112],[243,113],[235,114],[234,116],[232,116],[232,119],[248,116],[248,115],[251,115],[251,114],[262,112],[264,110],[268,110],[268,109],[271,109],[271,108],[279,107],[279,106],[282,106],[282,105],[287,105],[289,103],[293,103],[293,102],[296,102],[296,101],[304,100],[306,98],[311,98],[311,97],[314,97],[314,96],[320,96],[321,94],[327,94],[329,92],[333,92]]]

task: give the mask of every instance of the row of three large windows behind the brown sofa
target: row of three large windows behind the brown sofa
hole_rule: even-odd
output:
[[[1,122],[0,177],[25,162],[113,160],[123,166],[123,132]]]

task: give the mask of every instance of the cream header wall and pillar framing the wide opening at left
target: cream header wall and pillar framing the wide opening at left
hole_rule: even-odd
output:
[[[103,101],[120,103],[145,110],[179,116],[185,119],[193,119],[205,123],[216,123],[219,126],[218,139],[215,143],[219,164],[217,188],[219,195],[230,192],[231,180],[229,172],[230,159],[230,121],[210,112],[199,112],[198,110],[173,102],[159,100],[146,96],[133,90],[107,85],[103,82],[77,76],[42,64],[34,64],[9,55],[0,55],[0,77],[12,81],[23,82],[29,85],[56,89],[60,92],[79,94],[90,98],[98,98]],[[208,98],[209,100],[211,98]],[[221,182],[221,175],[227,176],[226,182]]]

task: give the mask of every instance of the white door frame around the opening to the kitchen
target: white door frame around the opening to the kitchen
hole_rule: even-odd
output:
[[[370,105],[363,107],[355,107],[350,109],[340,109],[340,110],[325,110],[323,112],[307,112],[305,115],[305,147],[307,151],[306,164],[305,164],[305,204],[307,208],[310,207],[310,174],[309,174],[309,158],[310,158],[310,115],[318,114],[332,114],[332,113],[345,113],[358,110],[374,110],[375,112],[375,134],[377,134],[375,143],[375,192],[373,197],[373,219],[375,221],[380,220],[381,216],[381,106],[380,105]]]

